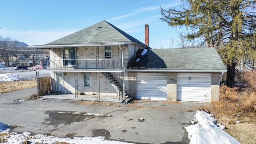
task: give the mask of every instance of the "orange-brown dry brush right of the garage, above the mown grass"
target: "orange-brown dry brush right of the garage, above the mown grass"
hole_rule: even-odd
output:
[[[256,93],[220,86],[220,100],[211,102],[210,112],[218,119],[234,122],[256,122]]]

